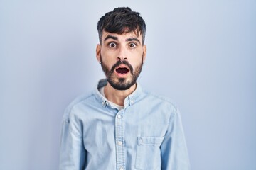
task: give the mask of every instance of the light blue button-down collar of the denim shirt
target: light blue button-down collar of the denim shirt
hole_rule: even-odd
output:
[[[107,79],[101,79],[97,84],[97,88],[95,89],[95,97],[98,101],[102,103],[103,107],[107,105],[107,98],[100,94],[99,89],[106,85]],[[126,108],[127,106],[132,106],[134,103],[136,103],[140,94],[142,94],[142,87],[137,83],[135,91],[124,99],[124,108]]]

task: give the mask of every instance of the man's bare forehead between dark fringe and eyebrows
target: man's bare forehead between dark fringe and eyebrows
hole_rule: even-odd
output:
[[[139,39],[140,42],[142,42],[142,34],[141,33],[134,33],[134,31],[131,31],[129,33],[122,33],[122,34],[117,34],[117,33],[109,33],[105,30],[103,30],[102,32],[102,42],[104,42],[105,38],[107,38],[107,36],[113,36],[115,38],[117,38],[118,41],[122,41],[122,40],[127,40],[127,38],[137,38]]]

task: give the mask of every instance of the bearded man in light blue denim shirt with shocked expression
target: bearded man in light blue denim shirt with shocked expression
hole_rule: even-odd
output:
[[[137,84],[146,58],[142,17],[115,8],[97,30],[106,79],[66,109],[60,169],[190,169],[178,109]]]

